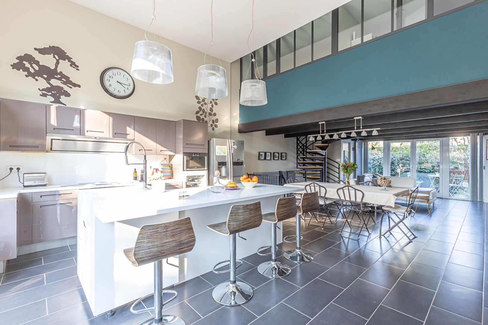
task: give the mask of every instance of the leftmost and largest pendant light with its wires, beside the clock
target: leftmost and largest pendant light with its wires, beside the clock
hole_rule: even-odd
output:
[[[138,41],[134,47],[130,74],[142,81],[166,84],[173,82],[173,59],[171,50],[162,44],[161,36],[160,43],[156,42],[156,34],[154,34],[154,41],[148,40],[146,37],[147,30],[153,21],[156,23],[158,34],[160,34],[158,22],[154,15],[155,9],[156,4],[155,0],[153,0],[151,22],[144,32],[144,39]]]

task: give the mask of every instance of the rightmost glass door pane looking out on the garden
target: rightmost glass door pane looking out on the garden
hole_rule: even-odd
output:
[[[449,197],[470,200],[470,137],[449,138],[449,172],[445,173],[444,191]]]

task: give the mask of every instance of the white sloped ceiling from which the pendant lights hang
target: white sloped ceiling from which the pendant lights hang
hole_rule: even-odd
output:
[[[152,14],[151,0],[71,0],[131,25],[146,29]],[[254,46],[274,39],[317,19],[349,0],[255,0]],[[156,0],[156,18],[161,36],[206,52],[210,43],[211,0]],[[214,0],[214,45],[210,54],[232,62],[249,50],[252,0]],[[153,24],[150,32],[157,33]],[[142,37],[142,36],[141,36]]]

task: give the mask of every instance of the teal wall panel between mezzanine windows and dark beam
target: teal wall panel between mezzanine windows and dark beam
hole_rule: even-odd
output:
[[[488,77],[488,1],[266,80],[240,123]],[[361,112],[358,112],[360,115]]]

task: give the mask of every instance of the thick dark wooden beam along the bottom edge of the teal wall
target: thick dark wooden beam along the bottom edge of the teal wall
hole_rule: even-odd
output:
[[[488,99],[488,78],[298,114],[240,123],[238,131],[239,133],[264,131],[289,125],[352,118],[358,115],[369,116],[406,112],[486,99]]]

